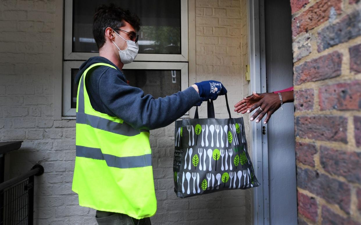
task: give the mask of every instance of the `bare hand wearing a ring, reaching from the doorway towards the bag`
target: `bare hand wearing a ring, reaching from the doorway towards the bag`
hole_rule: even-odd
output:
[[[260,107],[250,118],[253,121],[258,115],[256,123],[260,122],[262,118],[267,114],[264,124],[268,122],[271,118],[271,115],[279,109],[281,103],[279,100],[278,94],[274,93],[262,93],[257,94],[253,92],[252,95],[249,95],[246,98],[243,98],[240,102],[234,105],[235,112],[238,113],[251,113],[256,108]]]

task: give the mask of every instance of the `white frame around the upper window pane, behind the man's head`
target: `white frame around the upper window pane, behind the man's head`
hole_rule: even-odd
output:
[[[64,6],[64,60],[87,60],[99,53],[73,52],[73,0]],[[181,54],[138,54],[134,61],[188,62],[188,1],[181,0]]]

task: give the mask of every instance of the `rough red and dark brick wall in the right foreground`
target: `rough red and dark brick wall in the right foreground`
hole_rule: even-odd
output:
[[[299,224],[361,224],[361,1],[291,7]]]

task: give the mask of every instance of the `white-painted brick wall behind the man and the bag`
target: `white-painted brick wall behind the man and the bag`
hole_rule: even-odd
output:
[[[245,7],[245,0],[196,0],[196,80],[222,81],[231,111],[248,92]],[[0,140],[24,140],[22,148],[9,155],[11,176],[35,163],[45,168],[35,179],[35,224],[95,224],[94,210],[78,206],[71,191],[75,121],[53,120],[54,22],[54,1],[0,1]],[[227,118],[224,98],[215,107],[218,118]],[[201,116],[205,111],[204,105]],[[249,224],[249,194],[243,190],[175,196],[173,129],[174,124],[151,131],[158,199],[152,224]]]

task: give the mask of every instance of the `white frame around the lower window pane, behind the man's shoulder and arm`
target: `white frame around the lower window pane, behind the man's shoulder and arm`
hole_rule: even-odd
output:
[[[65,61],[63,68],[64,84],[71,84],[71,69],[79,68],[85,61]],[[181,71],[181,90],[188,88],[188,63],[187,62],[132,62],[124,65],[123,69],[168,69]],[[125,74],[126,75],[126,74]],[[71,85],[63,85],[62,115],[74,117],[76,109],[71,108]],[[188,112],[184,116],[189,116]]]

